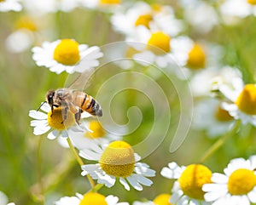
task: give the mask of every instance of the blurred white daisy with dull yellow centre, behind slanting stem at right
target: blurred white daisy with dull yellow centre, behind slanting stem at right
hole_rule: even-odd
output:
[[[201,100],[195,106],[194,113],[193,127],[206,130],[207,136],[211,138],[227,133],[234,123],[234,118],[215,99]]]

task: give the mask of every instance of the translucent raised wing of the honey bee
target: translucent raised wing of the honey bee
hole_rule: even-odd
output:
[[[90,86],[93,75],[94,69],[90,69],[79,74],[73,73],[72,75],[69,75],[67,77],[66,84],[69,84],[69,86],[65,87],[73,90],[83,91],[85,88],[88,88]]]

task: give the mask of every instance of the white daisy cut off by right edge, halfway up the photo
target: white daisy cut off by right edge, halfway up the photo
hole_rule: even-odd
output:
[[[232,79],[232,84],[221,84],[219,91],[229,102],[223,103],[223,108],[230,112],[230,116],[240,119],[243,124],[251,123],[256,126],[256,85],[244,85],[241,78]]]

